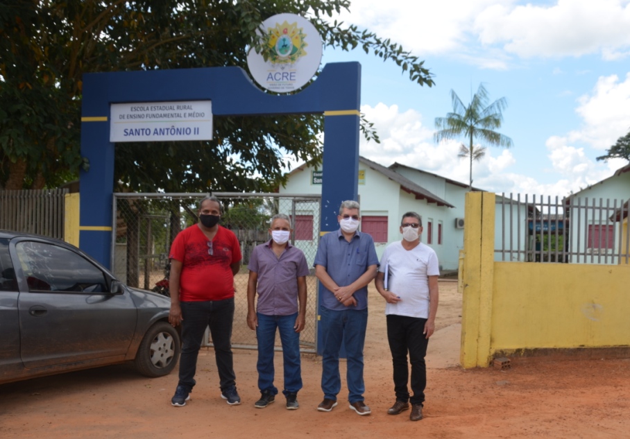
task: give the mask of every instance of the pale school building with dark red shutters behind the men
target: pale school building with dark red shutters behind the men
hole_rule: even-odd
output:
[[[299,166],[289,173],[287,184],[279,191],[321,194],[322,171],[306,165]],[[405,212],[413,211],[423,218],[421,239],[436,251],[441,269],[457,270],[459,250],[463,248],[463,199],[466,191],[466,184],[439,175],[400,164],[386,168],[359,157],[361,230],[372,235],[379,257],[388,243],[402,239],[400,220]],[[324,219],[337,223],[337,218]],[[308,225],[313,225],[314,221],[318,218],[296,214],[296,235],[299,230],[308,231]],[[298,239],[299,236],[296,236]]]

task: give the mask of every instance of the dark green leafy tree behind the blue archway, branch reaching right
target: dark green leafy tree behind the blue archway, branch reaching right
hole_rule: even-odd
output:
[[[271,15],[307,17],[326,46],[361,47],[419,85],[432,74],[390,40],[329,21],[349,0],[8,0],[0,4],[0,187],[55,187],[80,157],[81,77],[96,71],[246,68]],[[117,146],[115,178],[133,191],[264,191],[284,159],[321,161],[318,115],[217,117],[212,141]],[[364,123],[367,137],[372,127]]]

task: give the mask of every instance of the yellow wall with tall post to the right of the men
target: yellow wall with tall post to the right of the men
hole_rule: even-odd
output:
[[[497,352],[630,347],[630,265],[495,262],[494,203],[466,194],[463,368],[487,367]]]

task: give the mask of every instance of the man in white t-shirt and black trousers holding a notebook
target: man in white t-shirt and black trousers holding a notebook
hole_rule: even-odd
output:
[[[409,419],[423,418],[427,385],[425,355],[429,337],[435,330],[438,309],[440,274],[434,250],[420,242],[422,218],[416,212],[402,216],[400,233],[396,241],[385,249],[376,289],[386,300],[387,339],[393,362],[393,381],[396,401],[387,413],[398,415],[409,408]],[[409,396],[409,365],[411,363],[411,390]]]

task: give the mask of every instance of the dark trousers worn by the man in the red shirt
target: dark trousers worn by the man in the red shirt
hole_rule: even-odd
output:
[[[207,300],[204,302],[181,302],[182,307],[182,355],[178,386],[189,391],[195,385],[197,356],[203,341],[205,328],[210,326],[214,344],[214,359],[219,371],[221,391],[235,386],[232,363],[232,322],[234,321],[234,298]]]

